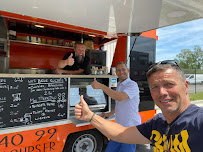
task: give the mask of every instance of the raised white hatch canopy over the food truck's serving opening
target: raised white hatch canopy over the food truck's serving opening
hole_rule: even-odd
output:
[[[203,17],[201,0],[0,0],[0,11],[115,34],[133,34]]]

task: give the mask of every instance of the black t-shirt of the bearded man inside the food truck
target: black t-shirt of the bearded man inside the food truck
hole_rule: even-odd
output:
[[[75,52],[68,52],[64,55],[63,60],[66,60],[71,53],[73,54],[73,59],[75,60],[74,64],[72,66],[66,65],[63,70],[79,70],[79,69],[83,69],[84,70],[84,74],[88,74],[88,65],[90,62],[90,58],[88,56],[85,56],[84,58],[84,62],[82,63],[78,63],[76,58],[75,58]]]

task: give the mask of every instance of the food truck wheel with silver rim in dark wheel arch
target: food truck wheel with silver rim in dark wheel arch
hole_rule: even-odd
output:
[[[64,152],[101,152],[104,146],[102,136],[95,129],[73,133],[66,142]]]

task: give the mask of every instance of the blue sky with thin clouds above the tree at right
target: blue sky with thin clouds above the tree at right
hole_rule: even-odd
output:
[[[173,60],[181,49],[203,49],[203,19],[157,29],[156,62]]]

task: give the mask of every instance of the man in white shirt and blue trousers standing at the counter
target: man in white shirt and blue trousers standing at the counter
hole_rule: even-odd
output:
[[[129,69],[124,62],[117,63],[116,75],[119,78],[116,91],[97,82],[96,79],[91,83],[94,89],[102,89],[116,102],[115,109],[109,113],[102,113],[102,116],[110,117],[115,114],[115,122],[124,127],[139,125],[141,117],[138,114],[140,103],[138,85],[129,78]],[[125,144],[110,140],[105,152],[135,152],[135,149],[135,144]]]

